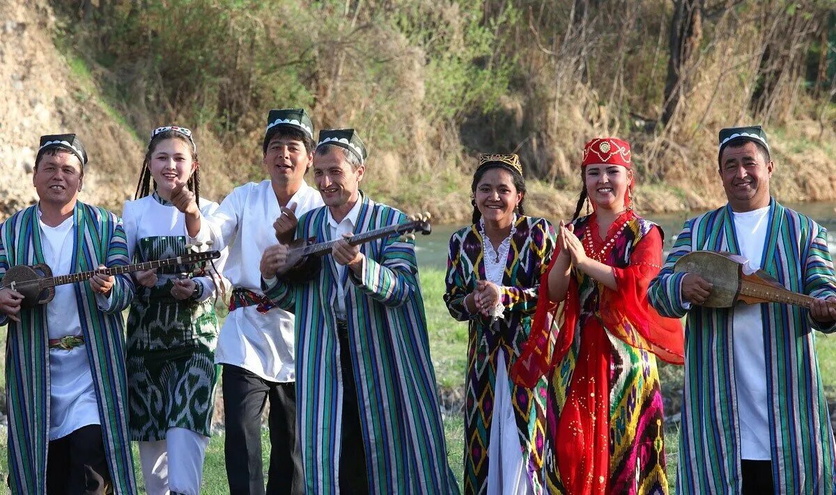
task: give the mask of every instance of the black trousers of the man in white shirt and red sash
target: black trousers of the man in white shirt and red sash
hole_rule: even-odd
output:
[[[264,380],[243,368],[223,365],[224,455],[232,495],[263,495],[261,418],[270,401],[269,495],[304,492],[302,458],[296,448],[296,384]]]

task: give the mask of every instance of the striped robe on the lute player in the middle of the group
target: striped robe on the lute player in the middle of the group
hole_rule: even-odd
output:
[[[407,221],[395,208],[362,201],[354,233]],[[331,240],[328,207],[305,213],[297,238]],[[457,493],[447,465],[436,374],[412,242],[360,245],[358,277],[343,275],[351,360],[370,492]],[[296,418],[305,493],[339,493],[342,368],[334,308],[337,268],[328,254],[308,283],[279,282],[265,294],[296,315]]]

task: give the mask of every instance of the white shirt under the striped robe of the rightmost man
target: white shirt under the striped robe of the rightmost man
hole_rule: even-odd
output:
[[[733,212],[737,244],[749,268],[763,266],[763,245],[769,224],[769,207]],[[763,350],[762,304],[735,305],[732,314],[732,363],[737,389],[741,458],[770,460],[767,410],[767,365]]]

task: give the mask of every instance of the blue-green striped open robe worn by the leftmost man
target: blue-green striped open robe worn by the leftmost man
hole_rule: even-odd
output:
[[[80,228],[79,228],[80,227]],[[76,202],[73,272],[128,264],[122,221],[104,208]],[[43,263],[38,205],[15,213],[0,227],[0,278],[9,267]],[[104,449],[115,493],[136,493],[130,452],[122,310],[134,295],[128,275],[115,276],[110,307],[101,311],[89,283],[76,283],[84,348],[87,349]],[[46,492],[49,434],[49,354],[46,305],[22,309],[21,323],[8,323],[6,397],[8,400],[9,485],[20,495]]]

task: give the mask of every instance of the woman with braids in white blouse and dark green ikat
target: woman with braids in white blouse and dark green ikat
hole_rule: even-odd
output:
[[[135,201],[125,203],[128,255],[136,263],[186,253],[183,213],[171,202],[181,184],[200,196],[191,130],[151,133]],[[153,179],[153,190],[151,189]],[[217,203],[200,200],[204,215]],[[139,441],[146,491],[197,495],[209,443],[217,370],[212,271],[177,266],[135,273],[127,325],[130,434]]]

